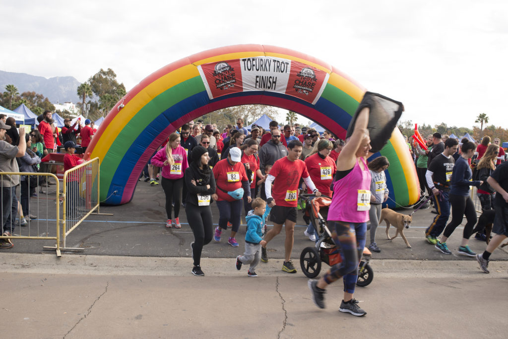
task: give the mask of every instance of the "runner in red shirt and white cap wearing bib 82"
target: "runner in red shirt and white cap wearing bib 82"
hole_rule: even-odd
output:
[[[219,161],[213,167],[216,190],[212,198],[217,202],[219,209],[219,226],[215,228],[213,239],[216,242],[220,241],[222,230],[227,229],[229,221],[233,228],[228,243],[233,247],[238,247],[235,235],[240,227],[242,197],[247,195],[247,201],[251,202],[249,179],[245,167],[241,163],[241,157],[240,148],[233,147],[229,151],[228,158]]]

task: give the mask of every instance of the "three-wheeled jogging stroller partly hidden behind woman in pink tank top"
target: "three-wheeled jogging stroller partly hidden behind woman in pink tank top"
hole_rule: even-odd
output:
[[[315,278],[321,271],[322,262],[332,266],[342,261],[340,251],[333,241],[326,223],[328,207],[332,203],[332,199],[326,196],[316,198],[313,194],[301,194],[300,197],[305,199],[306,203],[304,219],[308,218],[312,221],[312,225],[317,229],[319,235],[315,246],[303,249],[300,255],[300,267],[308,278]],[[358,267],[357,286],[365,287],[374,278],[374,272],[369,265],[371,257],[372,253],[365,248]]]

